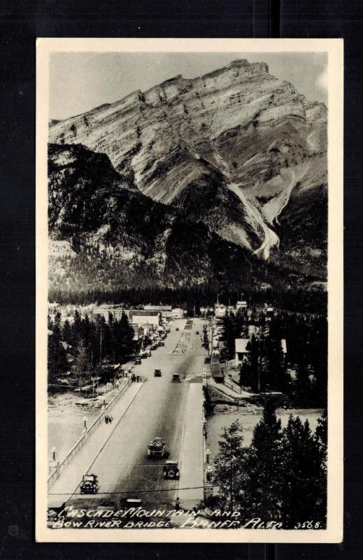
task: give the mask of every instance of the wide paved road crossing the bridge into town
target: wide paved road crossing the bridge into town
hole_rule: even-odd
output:
[[[146,379],[145,383],[89,471],[99,477],[99,493],[74,495],[68,505],[119,507],[122,498],[137,497],[145,507],[174,507],[178,481],[164,480],[162,465],[166,457],[148,458],[147,447],[153,437],[162,437],[169,458],[180,460],[190,383],[201,382],[206,356],[196,334],[197,330],[202,332],[202,325],[200,319],[192,323],[174,321],[165,346],[134,367],[135,373]],[[176,327],[180,330],[176,331]],[[178,343],[185,332],[190,333],[190,340],[183,346],[183,352]],[[162,370],[162,377],[154,377],[155,367]],[[171,381],[176,372],[182,379],[179,384]]]

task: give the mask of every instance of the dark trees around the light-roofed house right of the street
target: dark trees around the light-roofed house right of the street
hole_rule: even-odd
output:
[[[240,384],[252,391],[281,391],[294,407],[327,405],[327,319],[324,316],[280,312],[271,321],[264,314],[253,323],[258,334],[252,334],[247,357],[240,370]],[[225,347],[234,358],[235,339],[248,338],[245,313],[227,314],[224,319]],[[285,339],[286,356],[281,340]],[[287,372],[294,370],[294,378]]]

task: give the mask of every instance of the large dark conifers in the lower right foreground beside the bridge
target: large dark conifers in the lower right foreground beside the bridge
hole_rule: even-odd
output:
[[[299,416],[290,415],[287,427],[281,428],[275,406],[269,400],[255,426],[250,447],[243,447],[241,425],[234,421],[224,428],[219,442],[215,484],[219,486],[219,496],[212,498],[213,505],[237,510],[241,519],[278,521],[285,529],[325,528],[326,410],[318,419],[315,433]]]

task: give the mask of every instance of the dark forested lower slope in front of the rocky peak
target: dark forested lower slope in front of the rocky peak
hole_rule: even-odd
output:
[[[57,293],[301,281],[146,197],[108,156],[80,144],[48,148],[48,221],[49,288]]]

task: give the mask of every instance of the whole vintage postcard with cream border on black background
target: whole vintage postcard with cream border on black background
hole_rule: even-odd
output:
[[[38,541],[341,541],[342,90],[338,39],[38,39]]]

